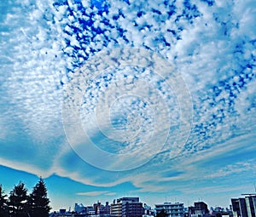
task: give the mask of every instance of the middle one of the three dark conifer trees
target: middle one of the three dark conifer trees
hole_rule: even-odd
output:
[[[20,181],[20,183],[15,186],[13,191],[10,191],[9,195],[9,213],[12,217],[26,217],[27,208],[27,189],[25,184]]]

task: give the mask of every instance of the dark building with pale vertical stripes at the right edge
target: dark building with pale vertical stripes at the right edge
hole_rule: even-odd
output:
[[[232,198],[231,203],[234,217],[256,217],[256,194]]]

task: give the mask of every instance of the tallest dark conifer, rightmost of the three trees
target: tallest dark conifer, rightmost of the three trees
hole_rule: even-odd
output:
[[[47,197],[47,188],[42,178],[40,178],[32,190],[29,197],[29,205],[31,217],[49,216],[49,210],[51,208],[49,206],[49,198]]]

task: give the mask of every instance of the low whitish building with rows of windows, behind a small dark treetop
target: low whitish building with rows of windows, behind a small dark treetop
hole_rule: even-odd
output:
[[[156,214],[160,214],[162,210],[165,211],[166,217],[183,217],[184,206],[183,203],[163,203],[155,204]]]

